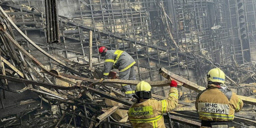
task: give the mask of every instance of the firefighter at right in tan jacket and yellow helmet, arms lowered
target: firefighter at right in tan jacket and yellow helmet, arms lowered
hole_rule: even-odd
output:
[[[196,98],[201,128],[233,128],[234,113],[241,111],[243,101],[224,85],[225,73],[221,69],[210,70],[207,81],[207,89]]]

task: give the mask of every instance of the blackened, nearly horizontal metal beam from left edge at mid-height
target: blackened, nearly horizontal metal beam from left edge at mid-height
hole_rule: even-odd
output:
[[[6,76],[6,75],[0,75],[0,79],[7,79],[9,81],[19,82],[19,83],[24,83],[24,84],[38,85],[38,86],[55,88],[55,89],[61,89],[61,90],[73,90],[73,89],[76,89],[76,86],[64,87],[64,86],[60,86],[60,85],[54,85],[54,84],[49,84],[49,83],[42,83],[42,82],[37,82],[37,81],[20,79],[20,78],[17,78],[17,77]]]

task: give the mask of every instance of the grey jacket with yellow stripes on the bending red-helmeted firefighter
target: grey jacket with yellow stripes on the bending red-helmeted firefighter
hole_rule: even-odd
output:
[[[132,67],[136,62],[126,52],[121,50],[108,50],[105,55],[103,76],[106,79],[112,68],[116,68],[119,72],[123,72]]]

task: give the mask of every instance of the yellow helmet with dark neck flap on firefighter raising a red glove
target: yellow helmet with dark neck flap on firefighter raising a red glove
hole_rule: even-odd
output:
[[[150,99],[151,98],[151,86],[145,81],[141,81],[136,86],[135,95],[133,95],[136,99]]]

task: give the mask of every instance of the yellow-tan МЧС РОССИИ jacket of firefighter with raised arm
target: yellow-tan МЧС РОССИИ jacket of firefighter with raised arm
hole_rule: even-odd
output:
[[[127,112],[133,128],[165,128],[163,113],[176,108],[178,97],[177,88],[172,87],[166,100],[148,99],[134,103]]]

